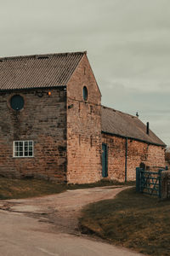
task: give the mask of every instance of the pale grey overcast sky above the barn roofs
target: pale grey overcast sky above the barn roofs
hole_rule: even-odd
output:
[[[88,51],[108,107],[170,145],[169,0],[0,0],[1,56]]]

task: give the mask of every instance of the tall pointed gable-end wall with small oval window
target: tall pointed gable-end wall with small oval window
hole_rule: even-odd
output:
[[[87,102],[82,98],[84,85]],[[94,183],[101,178],[100,98],[85,55],[67,86],[68,183]]]

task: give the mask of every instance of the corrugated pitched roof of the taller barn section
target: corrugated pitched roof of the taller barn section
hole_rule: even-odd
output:
[[[0,58],[0,90],[66,85],[86,52]]]

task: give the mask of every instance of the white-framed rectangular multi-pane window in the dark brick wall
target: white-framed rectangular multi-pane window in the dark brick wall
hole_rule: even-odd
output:
[[[13,156],[14,157],[33,157],[34,156],[33,141],[14,141]]]

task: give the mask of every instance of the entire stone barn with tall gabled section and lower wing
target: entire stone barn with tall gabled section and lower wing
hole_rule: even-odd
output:
[[[101,106],[86,52],[0,59],[0,176],[133,180],[136,166],[165,166],[165,146],[136,116]]]

